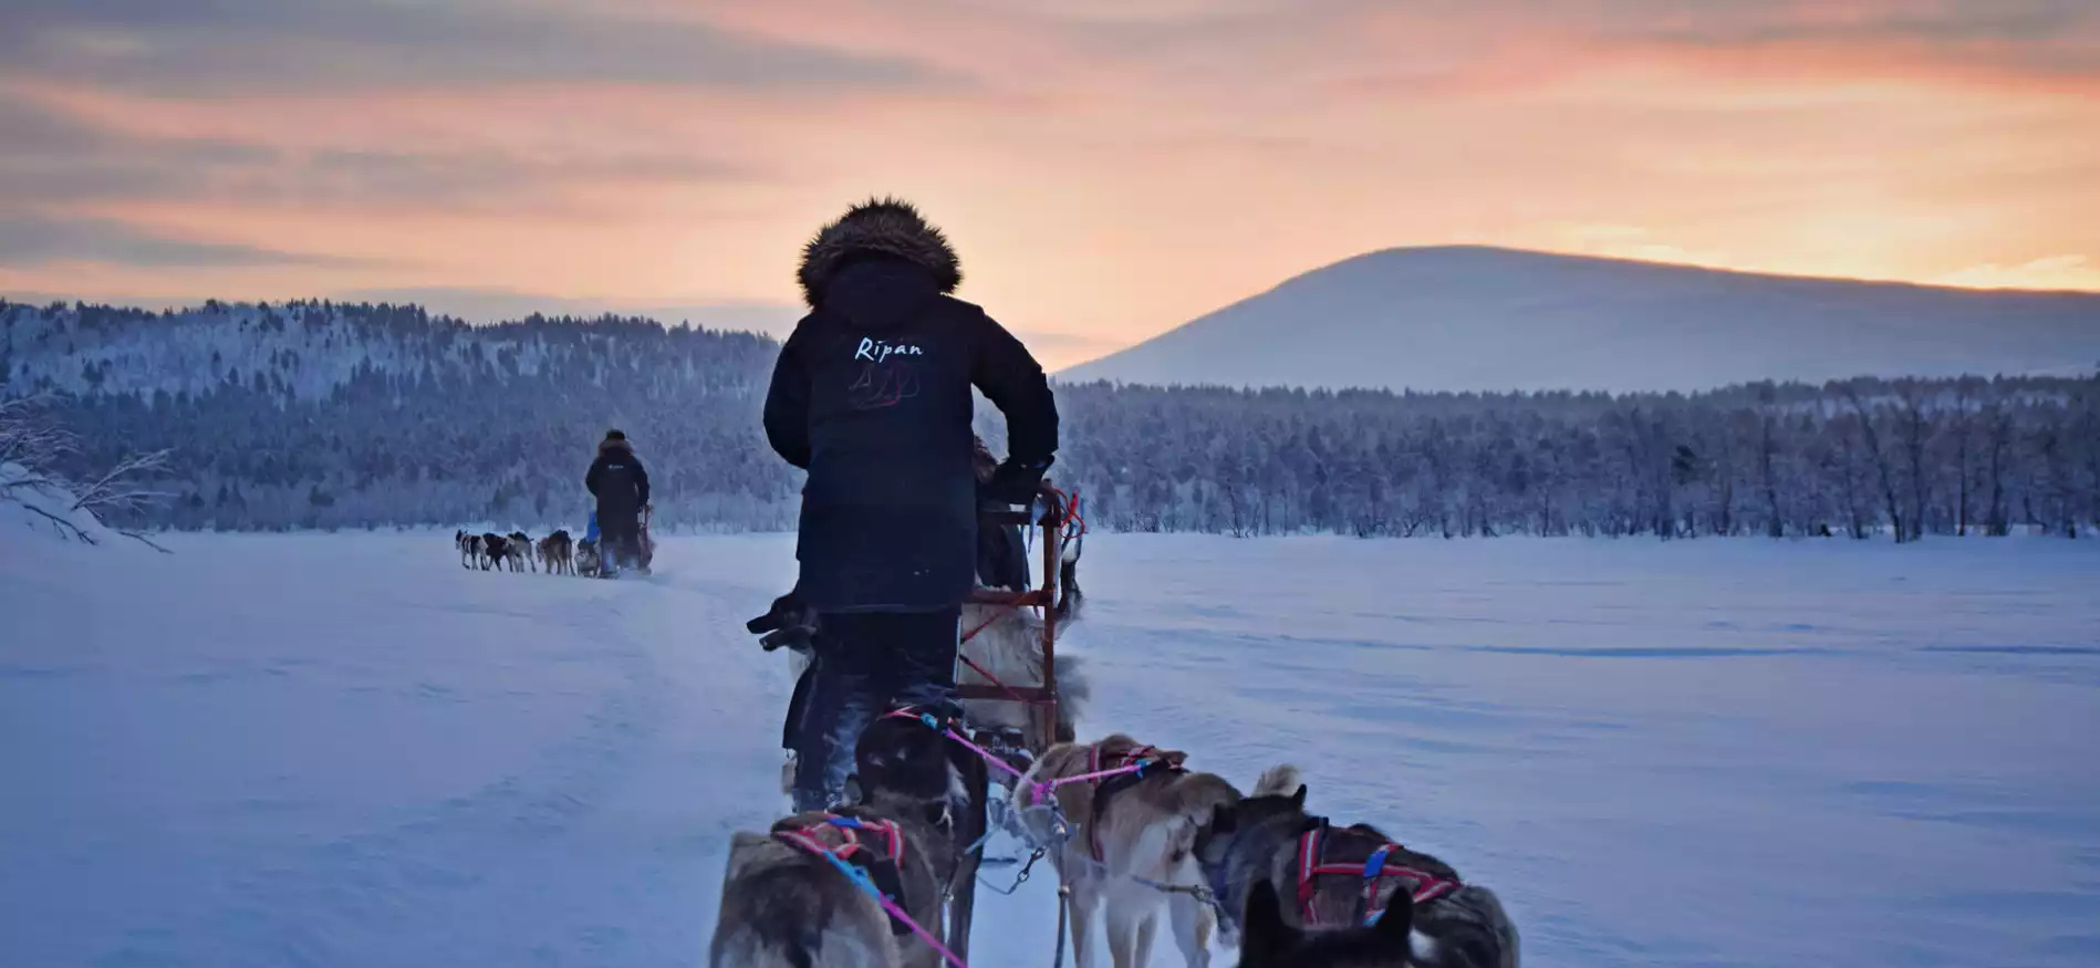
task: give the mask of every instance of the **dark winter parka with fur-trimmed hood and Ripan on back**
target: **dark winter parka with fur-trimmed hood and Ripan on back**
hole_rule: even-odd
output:
[[[1056,399],[1029,351],[947,296],[960,267],[897,202],[855,208],[802,258],[811,313],[781,346],[766,439],[808,470],[796,559],[819,613],[951,609],[976,573],[970,388],[1006,414],[989,491],[1027,502],[1056,456]]]

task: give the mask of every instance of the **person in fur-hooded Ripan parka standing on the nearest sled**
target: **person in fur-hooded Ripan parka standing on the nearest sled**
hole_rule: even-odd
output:
[[[811,313],[764,403],[773,449],[808,470],[796,594],[819,615],[796,727],[796,808],[832,806],[886,706],[953,708],[981,489],[1027,504],[1056,458],[1056,399],[1027,346],[949,296],[962,262],[905,202],[825,225],[796,273]],[[972,472],[970,388],[1006,414],[1008,458]]]

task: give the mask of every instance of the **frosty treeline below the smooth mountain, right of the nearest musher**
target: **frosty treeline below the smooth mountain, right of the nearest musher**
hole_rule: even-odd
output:
[[[1094,523],[1237,535],[2008,535],[2100,529],[2100,376],[1703,395],[1079,386]]]

